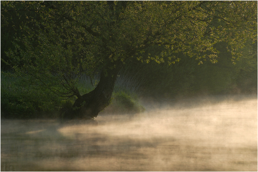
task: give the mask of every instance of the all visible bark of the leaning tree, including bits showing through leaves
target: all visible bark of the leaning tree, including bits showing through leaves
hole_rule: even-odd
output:
[[[119,13],[126,8],[126,4],[126,1],[118,2],[117,9],[120,10],[118,10],[118,13],[116,13],[116,11],[114,10],[114,1],[107,1],[109,10],[113,11],[109,14],[110,18],[116,15],[117,20],[120,20]],[[112,25],[114,25],[114,21],[110,21],[108,25],[110,33],[112,33]],[[89,30],[89,28],[87,28],[87,31],[89,31],[92,34],[92,31]],[[110,37],[111,41],[116,41],[112,40],[112,34],[110,35]],[[103,42],[106,42],[104,38],[102,38],[102,40]],[[107,50],[107,52],[109,52],[109,50]],[[112,96],[116,78],[122,65],[123,63],[120,60],[117,60],[116,62],[109,62],[109,64],[107,64],[105,68],[106,70],[102,70],[101,72],[100,80],[97,84],[97,87],[87,94],[78,96],[77,100],[75,100],[75,103],[72,106],[72,109],[67,110],[64,113],[64,118],[72,119],[97,117],[99,112],[101,110],[104,110],[105,107],[107,107],[110,104],[110,98]]]

